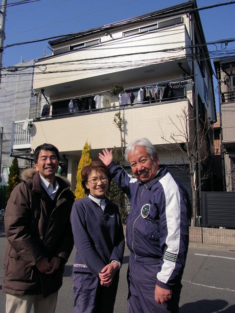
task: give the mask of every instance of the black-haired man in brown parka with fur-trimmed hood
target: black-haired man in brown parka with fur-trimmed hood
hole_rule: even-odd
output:
[[[8,240],[2,291],[6,313],[54,313],[65,263],[73,247],[70,214],[74,201],[68,181],[55,178],[58,149],[35,149],[34,169],[23,172],[7,202]]]

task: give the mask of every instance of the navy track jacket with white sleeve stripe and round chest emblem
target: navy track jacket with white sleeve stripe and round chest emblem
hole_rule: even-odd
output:
[[[190,201],[184,187],[166,166],[143,184],[122,167],[109,164],[112,179],[128,196],[131,208],[126,242],[136,262],[159,264],[156,284],[164,289],[178,283],[188,252]]]

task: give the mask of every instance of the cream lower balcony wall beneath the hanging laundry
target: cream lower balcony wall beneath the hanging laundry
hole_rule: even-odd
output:
[[[154,145],[165,144],[163,135],[171,140],[170,134],[177,133],[177,127],[182,127],[177,115],[181,115],[185,107],[188,109],[189,101],[187,98],[167,100],[121,107],[125,145],[139,137],[148,137]],[[112,107],[34,121],[32,148],[35,149],[43,142],[51,142],[63,154],[77,155],[88,140],[92,154],[97,156],[97,152],[104,147],[119,147],[120,133],[114,124],[118,110],[119,107]]]

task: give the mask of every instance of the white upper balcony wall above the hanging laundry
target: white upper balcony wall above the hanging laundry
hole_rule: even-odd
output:
[[[189,51],[179,49],[189,42],[183,23],[130,37],[123,37],[117,29],[113,37],[107,41],[107,36],[101,36],[99,45],[36,62],[33,88],[44,89],[50,101],[57,101],[108,90],[117,82],[127,88],[178,77],[182,72],[178,63],[182,62],[190,71]]]

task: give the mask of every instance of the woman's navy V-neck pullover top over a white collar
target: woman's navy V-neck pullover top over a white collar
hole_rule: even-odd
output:
[[[106,200],[104,211],[88,196],[73,203],[71,225],[77,249],[73,271],[98,276],[113,260],[122,263],[125,239],[118,206]]]

